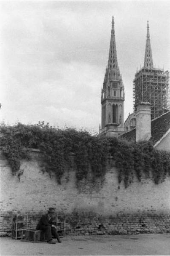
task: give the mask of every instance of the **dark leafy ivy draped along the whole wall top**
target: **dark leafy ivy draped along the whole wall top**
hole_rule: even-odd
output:
[[[125,187],[133,182],[136,175],[153,178],[158,184],[170,176],[170,154],[158,151],[148,141],[130,143],[126,140],[92,136],[86,131],[52,128],[47,123],[15,126],[1,125],[0,146],[12,168],[20,170],[20,160],[30,159],[30,148],[38,148],[43,154],[43,169],[61,184],[66,169],[72,166],[72,155],[76,166],[77,183],[91,173],[92,181],[103,179],[109,157],[118,168],[118,182]],[[20,172],[21,173],[21,172]]]

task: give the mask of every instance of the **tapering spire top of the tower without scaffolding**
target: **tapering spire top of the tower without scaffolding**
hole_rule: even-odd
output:
[[[112,30],[110,38],[110,48],[109,48],[109,59],[108,59],[108,71],[115,79],[115,76],[120,75],[118,68],[117,52],[116,52],[116,43],[115,43],[115,23],[114,17],[112,16]]]

